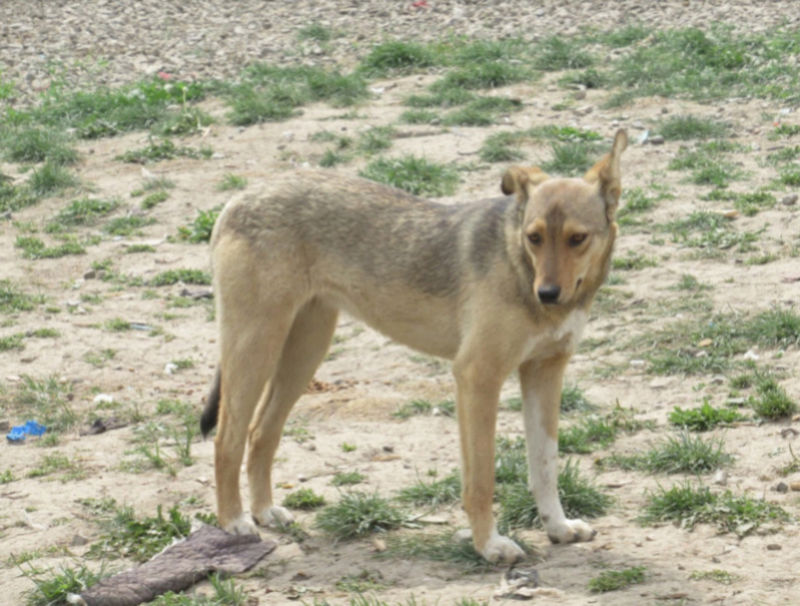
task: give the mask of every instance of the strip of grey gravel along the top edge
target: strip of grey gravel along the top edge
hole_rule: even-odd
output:
[[[318,23],[337,35],[320,46],[298,31]],[[159,71],[183,79],[232,78],[253,61],[351,67],[385,38],[448,35],[537,39],[624,24],[757,32],[800,24],[797,3],[728,0],[4,0],[0,90],[31,102],[57,84],[117,86]],[[3,101],[0,101],[3,102]]]

